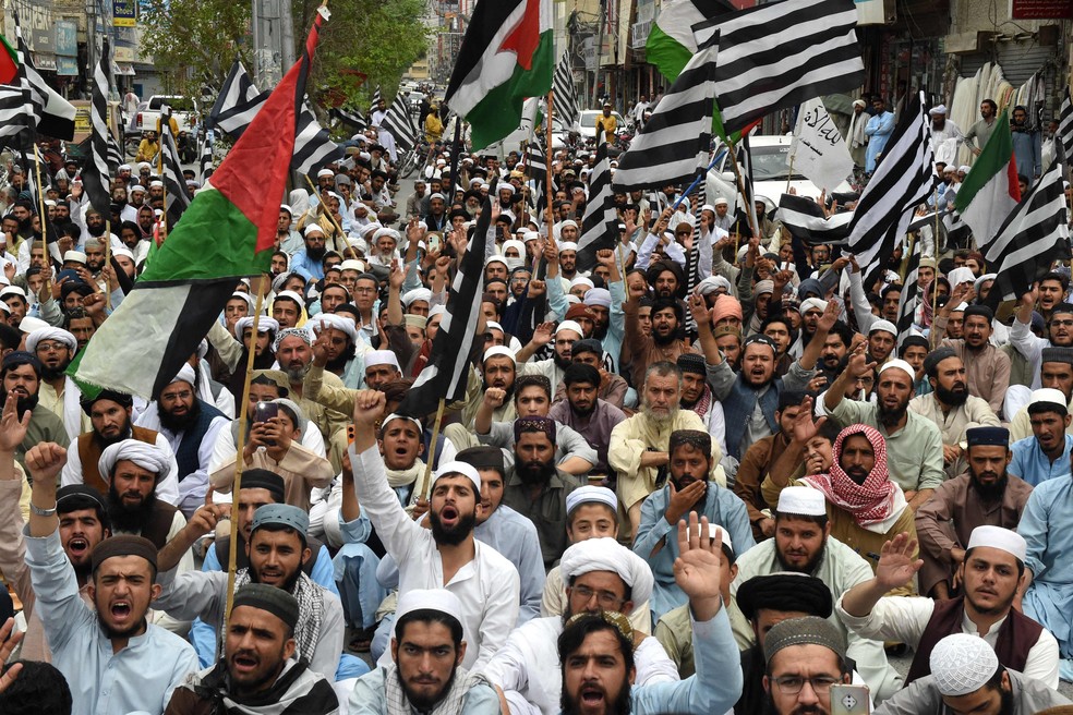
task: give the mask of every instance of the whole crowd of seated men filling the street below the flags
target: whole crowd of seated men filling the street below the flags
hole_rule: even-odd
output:
[[[592,153],[555,153],[548,220],[519,153],[437,150],[403,195],[383,138],[289,194],[269,272],[152,396],[65,371],[166,237],[159,179],[120,167],[106,217],[69,163],[43,241],[13,172],[0,712],[1073,705],[1068,266],[994,314],[984,257],[932,242],[900,334],[901,250],[869,283],[762,201],[753,234],[666,186],[616,194],[586,266]],[[437,425],[397,408],[482,210]]]

